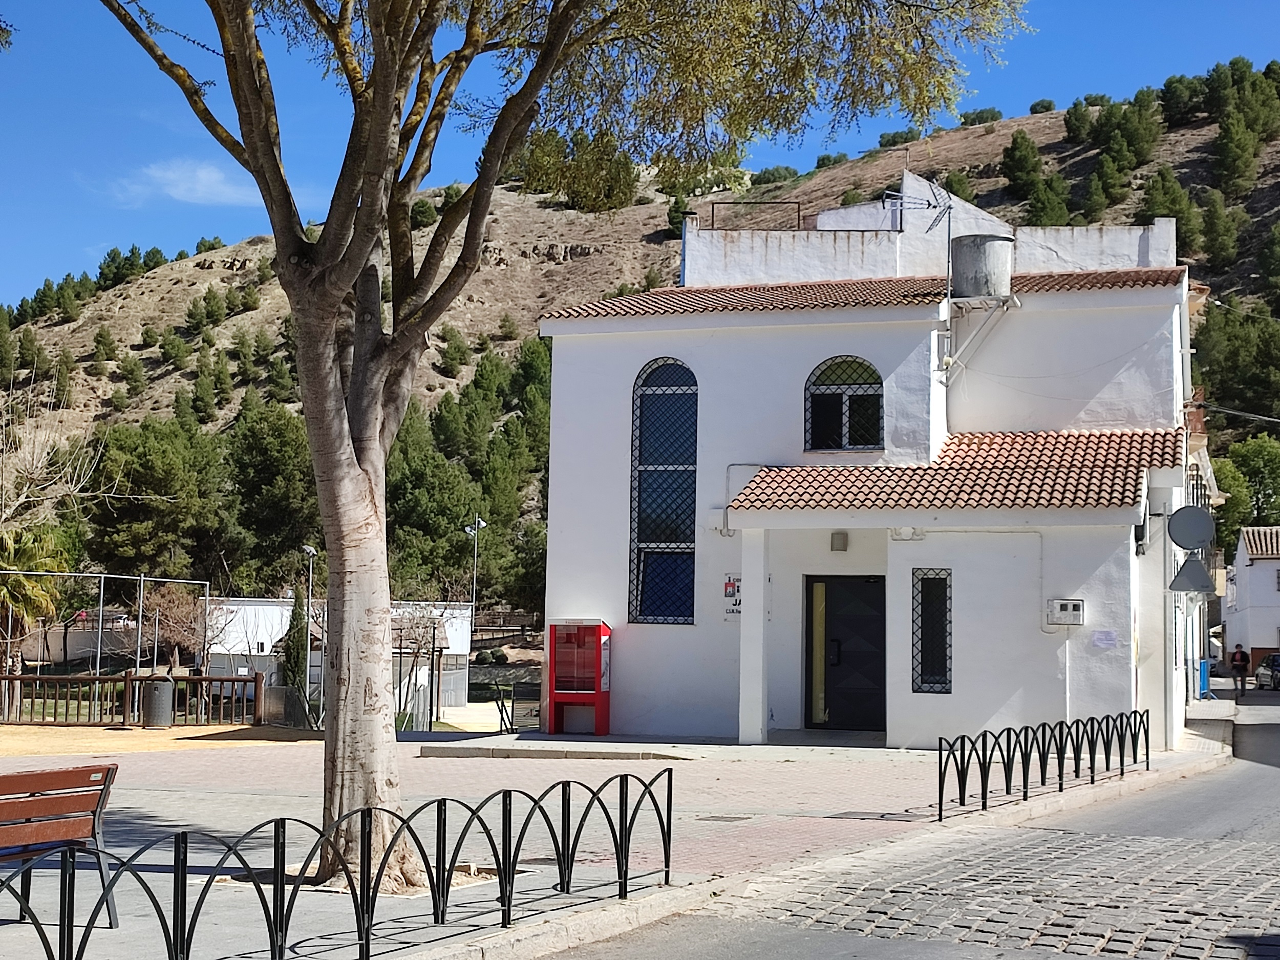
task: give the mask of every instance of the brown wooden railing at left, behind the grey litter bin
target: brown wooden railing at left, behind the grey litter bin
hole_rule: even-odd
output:
[[[142,684],[150,675],[0,675],[0,723],[113,727],[142,722]],[[160,681],[166,686],[168,680]],[[173,677],[174,724],[261,723],[266,681],[244,677]]]

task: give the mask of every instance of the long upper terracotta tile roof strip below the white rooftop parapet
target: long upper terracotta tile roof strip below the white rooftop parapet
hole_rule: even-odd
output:
[[[1014,274],[1014,293],[1110,291],[1176,287],[1187,268],[1076,270],[1061,274]],[[740,287],[660,287],[646,293],[612,297],[544,314],[544,319],[604,316],[671,316],[681,314],[753,312],[762,310],[845,310],[909,307],[941,303],[945,276],[890,276],[876,280],[813,280]]]

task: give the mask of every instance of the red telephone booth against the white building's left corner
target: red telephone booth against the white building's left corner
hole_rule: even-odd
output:
[[[609,625],[603,620],[553,620],[547,632],[547,732],[564,732],[566,707],[591,707],[595,736],[608,736]]]

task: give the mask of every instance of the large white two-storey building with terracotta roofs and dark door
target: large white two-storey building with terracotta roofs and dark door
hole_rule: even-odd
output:
[[[1160,518],[1189,462],[1212,484],[1174,221],[1015,230],[952,198],[1014,276],[948,308],[945,220],[910,209],[946,195],[904,189],[817,229],[691,218],[684,285],[543,319],[547,618],[613,628],[618,733],[932,746],[1151,709],[1162,748],[1202,618]]]

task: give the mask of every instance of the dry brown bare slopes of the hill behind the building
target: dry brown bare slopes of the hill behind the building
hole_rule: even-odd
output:
[[[933,178],[950,170],[964,172],[979,206],[1019,223],[1021,205],[1007,191],[1000,175],[1000,160],[1015,129],[1024,129],[1037,142],[1044,159],[1046,174],[1062,173],[1074,189],[1082,188],[1096,163],[1097,151],[1091,146],[1068,143],[1064,138],[1062,113],[1020,116],[984,127],[964,127],[936,133],[925,140],[868,155],[823,170],[805,174],[788,183],[769,184],[749,191],[744,197],[714,195],[698,198],[694,206],[709,225],[710,204],[749,201],[788,201],[800,205],[803,214],[838,205],[841,196],[856,188],[874,197],[891,187],[904,166]],[[1210,147],[1217,132],[1213,123],[1197,123],[1167,131],[1156,150],[1155,160],[1134,175],[1133,195],[1107,210],[1105,223],[1133,223],[1142,200],[1140,186],[1160,164],[1170,164],[1184,186],[1210,184]],[[678,273],[680,244],[666,238],[664,197],[650,189],[641,191],[653,202],[637,204],[609,214],[581,214],[566,210],[545,197],[524,196],[515,188],[498,191],[488,221],[484,262],[467,287],[467,292],[449,310],[445,321],[475,343],[481,334],[494,339],[498,349],[509,351],[513,343],[498,340],[499,321],[509,314],[521,335],[535,330],[536,319],[552,307],[568,306],[599,298],[618,284],[639,284],[650,269],[664,283],[673,283]],[[1244,202],[1253,224],[1242,234],[1240,259],[1226,274],[1213,275],[1202,259],[1189,261],[1193,275],[1216,291],[1256,292],[1254,255],[1280,206],[1280,141],[1266,146],[1260,160],[1257,188]],[[791,221],[790,210],[758,206],[718,207],[718,227],[769,225],[771,220]],[[421,232],[419,250],[425,248],[431,228]],[[195,380],[195,364],[177,371],[161,362],[156,347],[143,348],[142,328],[157,330],[166,326],[183,329],[186,310],[193,297],[209,284],[244,285],[257,275],[261,257],[273,255],[268,237],[253,237],[209,253],[166,264],[148,274],[97,294],[84,303],[76,321],[45,317],[36,323],[37,334],[50,356],[63,346],[70,347],[81,361],[73,376],[73,403],[63,411],[46,415],[56,419],[55,429],[73,435],[111,419],[137,420],[148,413],[172,410],[174,392]],[[58,275],[56,265],[50,274]],[[280,330],[288,303],[275,280],[260,288],[261,307],[228,317],[215,329],[216,348],[228,349],[241,326],[266,328],[280,342]],[[147,389],[123,413],[110,408],[109,397],[119,385],[115,364],[110,375],[92,378],[86,365],[92,356],[92,339],[100,324],[106,324],[122,351],[136,352],[147,370]],[[198,342],[196,343],[198,346]],[[439,340],[433,335],[433,349],[422,362],[419,390],[431,406],[433,394],[457,389],[470,376],[463,370],[457,380],[440,375],[434,367],[439,360]],[[244,385],[237,381],[237,394]],[[225,424],[238,403],[228,403],[215,425]],[[52,425],[52,424],[50,424]]]

